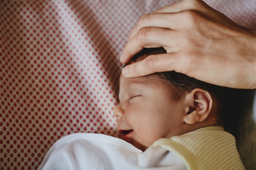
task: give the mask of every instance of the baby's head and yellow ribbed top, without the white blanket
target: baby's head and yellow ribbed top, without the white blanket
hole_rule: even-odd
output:
[[[144,49],[132,62],[159,53],[166,51]],[[225,169],[233,164],[229,168],[241,170],[236,142],[228,132],[242,116],[243,94],[174,71],[135,78],[121,75],[119,104],[113,111],[123,139],[143,151],[150,145],[166,148],[191,169]]]

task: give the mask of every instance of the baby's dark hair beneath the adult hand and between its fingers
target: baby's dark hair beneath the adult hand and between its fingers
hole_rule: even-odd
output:
[[[166,53],[162,47],[153,49],[145,48],[135,55],[132,61],[138,62],[148,55],[162,53]],[[235,132],[238,130],[239,120],[243,117],[245,105],[248,102],[248,96],[252,96],[252,91],[216,86],[175,71],[154,73],[154,75],[158,75],[160,78],[166,79],[171,83],[172,88],[174,87],[176,90],[174,93],[174,95],[176,95],[174,98],[176,99],[182,97],[184,92],[191,92],[195,88],[202,88],[208,91],[212,97],[217,99],[220,107],[217,115],[218,124],[223,126],[226,131],[236,135]]]

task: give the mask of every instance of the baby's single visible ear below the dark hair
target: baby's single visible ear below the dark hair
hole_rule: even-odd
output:
[[[186,124],[195,124],[204,121],[213,105],[213,99],[208,91],[202,88],[195,88],[186,95],[188,103],[184,122]]]

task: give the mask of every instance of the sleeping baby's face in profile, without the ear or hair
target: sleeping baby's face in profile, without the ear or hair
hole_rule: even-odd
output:
[[[157,139],[181,135],[186,115],[183,98],[173,100],[167,80],[156,75],[120,77],[119,105],[114,108],[123,139],[145,150]]]

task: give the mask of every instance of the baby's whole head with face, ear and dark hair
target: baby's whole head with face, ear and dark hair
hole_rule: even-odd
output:
[[[132,62],[160,53],[166,51],[144,49]],[[206,126],[221,125],[230,130],[239,119],[240,110],[234,106],[238,106],[235,96],[240,93],[174,71],[135,78],[121,75],[119,105],[114,108],[117,128],[124,140],[141,150],[157,139]]]

